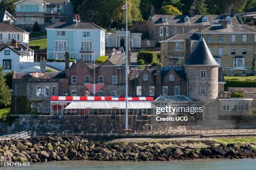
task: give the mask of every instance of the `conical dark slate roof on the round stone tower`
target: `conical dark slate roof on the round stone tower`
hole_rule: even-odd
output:
[[[189,60],[184,65],[219,66],[203,37],[198,40],[197,45],[190,54]]]

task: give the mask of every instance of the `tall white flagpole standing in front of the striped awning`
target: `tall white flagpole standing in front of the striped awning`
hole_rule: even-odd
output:
[[[125,43],[125,53],[126,53],[126,58],[125,58],[125,129],[128,129],[128,66],[127,66],[127,58],[128,58],[128,26],[127,26],[127,15],[128,15],[128,5],[126,1],[126,43]]]

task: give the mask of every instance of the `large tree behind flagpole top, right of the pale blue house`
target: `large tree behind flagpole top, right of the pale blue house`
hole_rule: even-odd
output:
[[[128,0],[128,25],[143,20],[140,2],[141,0]],[[125,10],[120,9],[123,5],[123,0],[84,0],[78,10],[85,22],[93,22],[107,28],[114,24],[121,28],[125,25]]]

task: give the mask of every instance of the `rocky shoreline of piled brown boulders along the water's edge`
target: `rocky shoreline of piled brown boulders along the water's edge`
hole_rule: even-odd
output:
[[[204,158],[256,158],[256,145],[220,144],[212,140],[149,140],[94,142],[77,136],[31,137],[0,140],[3,162],[47,162],[59,160],[193,160]]]

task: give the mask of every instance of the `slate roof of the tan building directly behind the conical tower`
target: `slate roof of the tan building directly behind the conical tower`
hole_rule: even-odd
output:
[[[208,25],[204,28],[200,28],[196,33],[207,32],[207,33],[236,33],[236,32],[248,32],[253,33],[256,32],[255,28],[251,28],[251,26],[245,25],[233,25],[228,24],[227,28],[223,28],[222,25]]]

